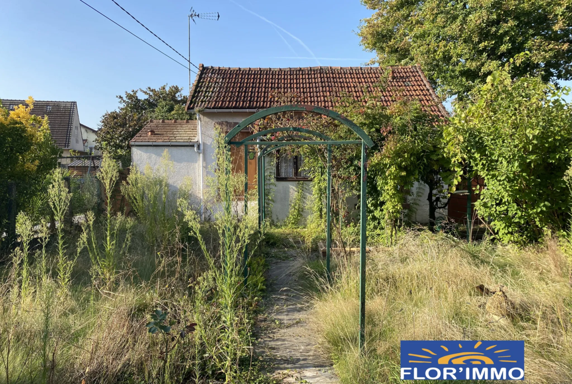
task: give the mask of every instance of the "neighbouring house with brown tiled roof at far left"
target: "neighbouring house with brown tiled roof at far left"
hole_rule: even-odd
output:
[[[3,99],[0,102],[8,110],[13,110],[18,105],[27,105],[26,100]],[[86,155],[77,102],[35,100],[30,113],[42,118],[47,116],[51,138],[63,150],[62,156],[70,156],[72,149]]]

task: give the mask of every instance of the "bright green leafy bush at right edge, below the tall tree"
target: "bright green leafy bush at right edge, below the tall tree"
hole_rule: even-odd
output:
[[[460,103],[444,131],[456,185],[463,173],[483,177],[475,203],[503,242],[540,240],[570,215],[563,179],[572,156],[572,105],[538,77],[493,73]]]

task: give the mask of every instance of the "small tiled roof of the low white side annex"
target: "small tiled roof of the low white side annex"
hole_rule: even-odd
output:
[[[133,137],[131,145],[177,142],[198,142],[196,120],[149,120],[147,125]]]

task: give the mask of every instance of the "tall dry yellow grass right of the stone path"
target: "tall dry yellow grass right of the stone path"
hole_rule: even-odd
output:
[[[570,266],[555,240],[519,249],[409,232],[368,254],[363,355],[359,256],[335,265],[313,322],[343,383],[400,382],[401,340],[462,339],[524,340],[527,381],[572,382]]]

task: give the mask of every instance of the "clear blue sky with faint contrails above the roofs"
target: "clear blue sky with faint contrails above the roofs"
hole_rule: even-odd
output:
[[[178,56],[111,0],[84,1]],[[354,32],[371,15],[359,0],[116,1],[185,57],[190,7],[219,11],[220,21],[191,26],[191,61],[197,65],[359,66],[374,56],[362,50]],[[0,33],[10,39],[0,56],[0,98],[74,100],[81,122],[97,128],[125,90],[176,84],[188,92],[185,68],[79,0],[16,1],[2,13]]]

